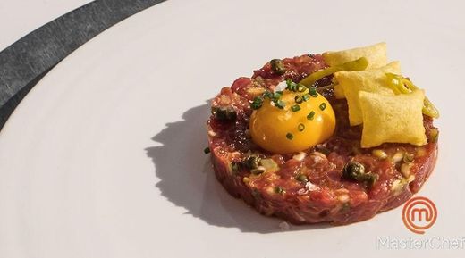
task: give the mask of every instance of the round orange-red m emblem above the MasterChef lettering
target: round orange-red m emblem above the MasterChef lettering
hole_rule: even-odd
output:
[[[413,197],[403,205],[402,221],[405,227],[417,234],[425,234],[437,218],[435,204],[427,197]]]

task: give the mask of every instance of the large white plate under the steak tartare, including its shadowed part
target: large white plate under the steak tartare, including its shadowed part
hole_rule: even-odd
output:
[[[51,71],[0,134],[0,257],[421,257],[379,239],[464,237],[461,2],[176,1],[107,30]],[[202,150],[206,101],[275,57],[386,41],[442,112],[440,156],[401,208],[344,227],[292,226],[227,195]]]

